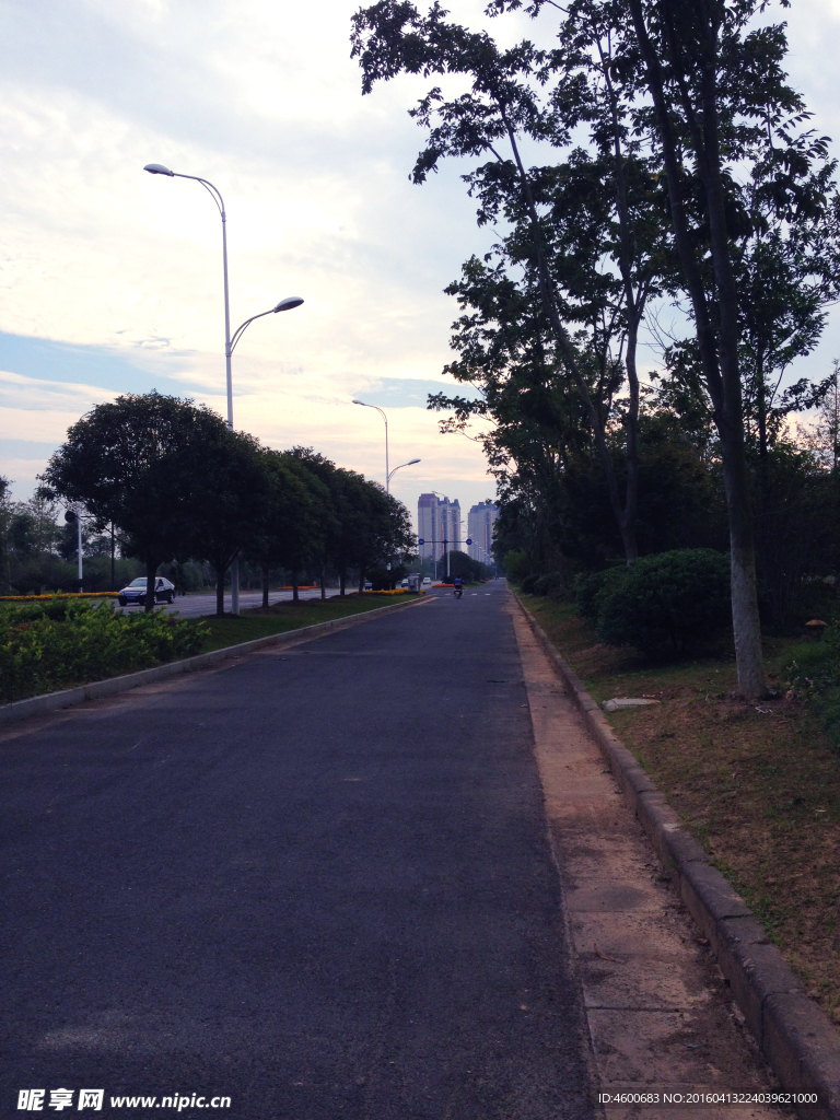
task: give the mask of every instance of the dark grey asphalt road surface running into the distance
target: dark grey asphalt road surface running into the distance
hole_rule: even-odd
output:
[[[82,1088],[134,1117],[594,1114],[504,601],[0,736],[0,1116],[59,1088],[73,1114]]]

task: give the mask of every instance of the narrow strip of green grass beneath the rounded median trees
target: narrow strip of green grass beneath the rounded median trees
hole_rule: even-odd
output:
[[[413,594],[404,597],[407,599],[420,598]],[[287,631],[314,626],[316,623],[348,618],[351,615],[361,615],[394,601],[401,600],[393,596],[368,591],[364,596],[347,595],[344,599],[335,596],[324,600],[301,599],[300,603],[276,603],[268,610],[263,607],[249,607],[237,618],[233,615],[225,615],[224,618],[205,615],[202,618],[206,635],[202,653],[222,650],[227,645],[237,645],[240,642],[251,642],[258,637],[268,637],[270,634],[284,634]]]

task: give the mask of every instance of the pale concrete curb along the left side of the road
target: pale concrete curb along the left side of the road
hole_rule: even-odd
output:
[[[358,615],[333,618],[326,623],[314,623],[311,626],[301,626],[298,629],[286,631],[282,634],[269,634],[268,637],[258,637],[251,642],[241,642],[239,645],[227,645],[222,650],[199,653],[195,657],[185,657],[183,661],[169,661],[164,665],[155,665],[153,669],[141,669],[137,673],[110,676],[105,681],[80,684],[78,688],[65,689],[62,692],[47,692],[45,696],[30,697],[28,700],[16,700],[15,703],[4,704],[0,708],[0,727],[13,724],[20,719],[28,719],[31,716],[43,716],[46,712],[58,711],[62,708],[71,708],[73,704],[83,703],[85,700],[97,700],[100,697],[114,696],[116,692],[128,692],[140,684],[162,681],[168,676],[179,676],[181,673],[194,673],[199,669],[209,669],[221,661],[228,661],[231,657],[253,653],[269,645],[288,645],[291,642],[306,641],[310,637],[317,637],[326,631],[345,629],[348,626],[356,626],[360,623],[368,622],[371,618],[379,618],[381,614],[390,610],[416,607],[421,603],[431,601],[432,599],[430,598],[420,598],[409,599],[408,603],[388,603],[384,607],[374,607],[373,610],[365,610]]]

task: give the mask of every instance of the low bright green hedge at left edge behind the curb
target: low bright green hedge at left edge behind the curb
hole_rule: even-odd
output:
[[[198,653],[204,624],[112,603],[50,599],[0,607],[0,702],[149,669]]]

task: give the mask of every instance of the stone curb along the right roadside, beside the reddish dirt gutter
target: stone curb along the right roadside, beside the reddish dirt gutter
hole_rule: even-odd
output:
[[[747,1026],[785,1090],[816,1092],[819,1105],[794,1103],[809,1120],[840,1120],[840,1040],[767,932],[683,827],[645,771],[623,745],[572,668],[514,596],[566,683],[622,792],[704,937]],[[732,1086],[738,1088],[738,1086]]]

